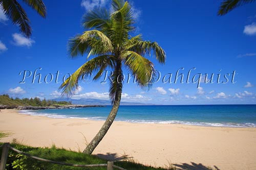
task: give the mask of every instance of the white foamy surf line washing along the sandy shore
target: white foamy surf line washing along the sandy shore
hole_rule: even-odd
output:
[[[27,114],[32,116],[46,116],[49,118],[79,118],[88,120],[105,120],[106,117],[94,116],[94,117],[79,117],[78,115],[61,115],[55,113],[40,113],[31,110],[22,110],[20,114]],[[181,124],[181,125],[194,125],[194,126],[208,126],[208,127],[256,127],[254,123],[208,123],[208,122],[188,122],[182,120],[144,120],[144,119],[120,119],[117,118],[118,122],[129,122],[129,123],[141,123],[141,124]]]

